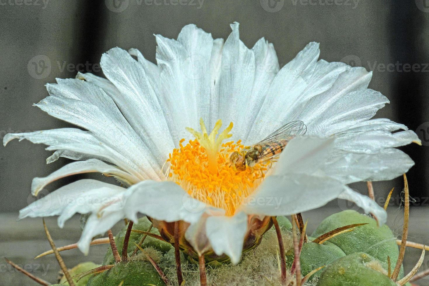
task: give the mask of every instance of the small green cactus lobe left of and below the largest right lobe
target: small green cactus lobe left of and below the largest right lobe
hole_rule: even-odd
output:
[[[308,241],[313,239],[314,238],[308,237]],[[292,266],[293,256],[292,248],[286,253],[286,264],[288,268]],[[328,241],[323,244],[307,242],[302,245],[301,256],[299,257],[299,261],[301,262],[301,274],[305,276],[314,269],[328,265],[343,256],[345,256],[344,251]],[[322,271],[323,270],[317,271],[310,277],[310,280],[319,277]]]

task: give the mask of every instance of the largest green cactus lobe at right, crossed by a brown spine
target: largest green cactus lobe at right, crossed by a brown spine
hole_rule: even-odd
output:
[[[351,232],[345,232],[329,239],[329,242],[340,247],[346,255],[365,252],[382,262],[387,270],[387,256],[390,256],[391,265],[396,265],[399,256],[399,248],[396,237],[388,226],[377,226],[377,222],[364,214],[353,210],[341,211],[332,214],[320,223],[312,236],[317,237],[341,226],[355,223],[368,223],[358,226]],[[393,268],[392,267],[392,268]],[[403,276],[403,268],[399,277]]]

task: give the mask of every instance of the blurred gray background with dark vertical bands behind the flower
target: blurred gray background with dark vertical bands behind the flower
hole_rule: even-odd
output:
[[[154,33],[176,38],[181,27],[193,23],[214,38],[227,38],[229,24],[238,21],[242,41],[252,47],[265,37],[274,44],[280,66],[293,59],[308,42],[316,41],[320,42],[320,58],[373,71],[370,88],[391,102],[377,117],[404,123],[423,141],[423,146],[410,145],[402,150],[416,162],[408,181],[415,198],[412,205],[420,207],[417,213],[424,216],[429,211],[428,19],[429,0],[0,0],[0,138],[9,132],[69,126],[32,104],[48,95],[44,85],[56,77],[74,78],[78,71],[102,75],[100,57],[112,47],[138,48],[154,62]],[[39,63],[44,64],[37,66]],[[17,211],[34,200],[30,196],[32,178],[46,176],[68,163],[62,158],[46,165],[51,152],[44,148],[28,141],[0,146],[0,218],[3,213],[4,228],[0,230],[0,256],[24,262],[27,255],[31,261],[36,252],[31,250],[33,247],[48,247],[43,235],[38,241],[25,231],[35,220],[14,223]],[[64,178],[50,184],[46,192],[84,177],[103,179],[101,175]],[[390,204],[396,210],[401,203],[401,179],[374,185],[379,204],[396,187]],[[366,192],[365,184],[355,184],[353,188]],[[328,207],[353,206],[332,202]],[[416,223],[421,234],[414,232],[414,240],[421,238],[424,241],[420,242],[429,244],[427,223],[423,223],[427,220],[417,219],[422,222]],[[400,220],[396,226],[401,228]],[[56,229],[54,223],[51,228]],[[34,229],[42,228],[38,225]],[[79,237],[73,231],[53,231],[73,242]],[[413,230],[410,232],[412,235]],[[11,242],[15,239],[26,241],[21,241],[19,250],[13,252],[9,246],[17,245]],[[411,257],[410,263],[414,260]],[[52,271],[49,275],[54,275]],[[33,285],[9,272],[0,273],[0,285]],[[6,276],[13,278],[6,280]]]

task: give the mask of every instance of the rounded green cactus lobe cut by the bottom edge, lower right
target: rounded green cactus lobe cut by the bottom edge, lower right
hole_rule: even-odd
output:
[[[382,263],[374,257],[360,252],[337,259],[328,265],[317,282],[317,286],[396,286],[385,273]]]

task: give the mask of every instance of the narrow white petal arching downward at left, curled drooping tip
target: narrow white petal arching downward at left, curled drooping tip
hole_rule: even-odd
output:
[[[31,184],[31,192],[34,196],[37,196],[40,190],[42,190],[47,184],[64,178],[70,175],[89,173],[89,172],[101,172],[108,176],[114,176],[118,180],[123,181],[127,184],[135,184],[139,181],[138,178],[122,171],[116,166],[106,164],[97,159],[90,159],[86,161],[69,163],[66,166],[53,172],[51,175],[44,178],[34,178]]]

